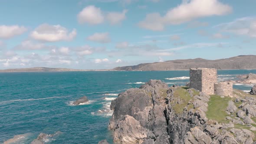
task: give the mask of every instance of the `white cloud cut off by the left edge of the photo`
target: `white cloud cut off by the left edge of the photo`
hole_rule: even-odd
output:
[[[13,36],[21,35],[22,33],[26,32],[26,28],[24,26],[18,26],[18,25],[12,25],[12,26],[6,26],[1,25],[0,26],[0,38],[3,39],[9,39]]]

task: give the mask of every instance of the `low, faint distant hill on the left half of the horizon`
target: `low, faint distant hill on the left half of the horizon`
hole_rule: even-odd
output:
[[[75,72],[75,71],[88,71],[82,69],[65,69],[65,68],[46,68],[46,67],[34,67],[25,69],[4,69],[0,72]]]

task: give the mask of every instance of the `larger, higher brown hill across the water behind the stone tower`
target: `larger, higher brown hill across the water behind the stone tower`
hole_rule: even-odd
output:
[[[256,56],[235,56],[228,59],[177,59],[166,62],[142,63],[133,66],[116,67],[112,70],[122,71],[164,71],[164,70],[188,70],[190,68],[214,68],[214,69],[256,69]]]

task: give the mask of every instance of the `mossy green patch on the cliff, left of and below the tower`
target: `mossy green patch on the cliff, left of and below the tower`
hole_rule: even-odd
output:
[[[171,104],[173,104],[172,108],[177,114],[181,114],[190,99],[191,97],[190,94],[187,92],[187,89],[177,88],[174,91],[174,101],[171,102]],[[177,104],[177,101],[181,101],[181,104]]]

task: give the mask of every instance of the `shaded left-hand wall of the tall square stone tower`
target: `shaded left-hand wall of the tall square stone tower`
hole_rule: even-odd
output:
[[[202,69],[190,69],[190,88],[202,91]]]

